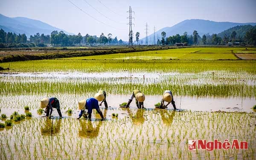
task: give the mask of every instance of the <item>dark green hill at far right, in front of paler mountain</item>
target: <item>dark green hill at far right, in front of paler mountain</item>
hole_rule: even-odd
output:
[[[244,38],[245,33],[252,28],[253,28],[252,25],[235,26],[230,29],[224,30],[223,32],[219,33],[217,36],[223,38],[225,35],[227,35],[227,37],[230,37],[231,33],[233,31],[236,31],[236,38],[239,38],[239,37]]]

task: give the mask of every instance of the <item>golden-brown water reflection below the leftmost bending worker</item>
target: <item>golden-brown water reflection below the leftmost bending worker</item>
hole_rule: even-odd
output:
[[[53,123],[52,123],[53,120]],[[49,119],[46,118],[44,125],[41,127],[42,136],[54,135],[60,132],[61,128],[61,119]]]

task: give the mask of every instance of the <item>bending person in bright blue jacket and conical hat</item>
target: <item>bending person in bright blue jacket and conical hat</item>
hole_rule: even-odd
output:
[[[79,117],[77,119],[80,119],[81,116],[85,116],[87,117],[88,115],[88,119],[91,119],[92,117],[92,111],[93,109],[96,109],[96,111],[99,113],[99,115],[101,116],[102,120],[105,119],[102,111],[100,111],[99,109],[99,101],[95,98],[88,98],[88,99],[84,99],[78,102],[78,109],[81,110],[81,112],[79,113]],[[84,110],[87,109],[87,113],[84,114]]]

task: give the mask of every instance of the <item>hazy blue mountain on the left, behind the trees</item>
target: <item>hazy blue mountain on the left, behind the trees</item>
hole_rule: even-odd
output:
[[[63,29],[56,28],[47,23],[41,22],[40,20],[33,20],[26,17],[6,17],[0,14],[0,28],[6,32],[15,32],[16,34],[25,33],[29,38],[30,35],[35,35],[36,33],[44,33],[44,35],[50,35],[52,31],[58,30],[63,31],[66,34],[73,35],[73,33],[68,33]]]

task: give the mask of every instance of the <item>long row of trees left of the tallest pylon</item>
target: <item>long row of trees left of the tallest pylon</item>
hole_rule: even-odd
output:
[[[96,35],[82,36],[67,35],[63,31],[52,31],[51,35],[44,35],[36,33],[34,36],[30,35],[29,40],[25,34],[16,34],[12,32],[6,33],[3,29],[0,30],[0,48],[9,47],[45,47],[47,45],[52,46],[76,46],[76,45],[96,45],[96,44],[108,44],[108,45],[122,45],[124,42],[122,39],[118,40],[117,37],[112,38],[112,34],[109,33],[106,37],[102,33],[99,37]]]

